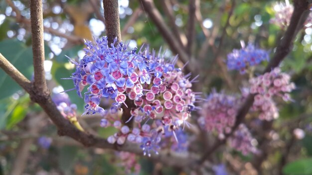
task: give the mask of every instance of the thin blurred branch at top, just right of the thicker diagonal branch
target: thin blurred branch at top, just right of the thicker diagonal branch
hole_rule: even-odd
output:
[[[160,0],[162,6],[163,6],[163,11],[168,16],[169,22],[170,22],[170,27],[171,30],[173,31],[173,34],[176,38],[176,40],[179,42],[181,47],[185,47],[186,45],[186,36],[181,33],[178,29],[178,27],[175,24],[175,17],[174,17],[174,12],[172,10],[172,5],[169,0]]]

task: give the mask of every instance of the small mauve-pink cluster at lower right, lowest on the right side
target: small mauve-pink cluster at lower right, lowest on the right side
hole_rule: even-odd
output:
[[[234,134],[229,138],[232,148],[242,152],[243,155],[249,153],[257,153],[257,141],[253,139],[248,128],[244,124],[240,124]]]

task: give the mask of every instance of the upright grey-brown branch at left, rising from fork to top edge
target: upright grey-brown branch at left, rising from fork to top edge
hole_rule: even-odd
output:
[[[44,40],[43,40],[43,16],[42,0],[29,0],[31,40],[34,67],[34,89],[37,96],[46,97],[50,94],[45,81],[44,62]]]

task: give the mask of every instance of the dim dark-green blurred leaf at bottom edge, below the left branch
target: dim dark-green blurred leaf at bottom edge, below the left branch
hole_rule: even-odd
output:
[[[77,152],[78,148],[74,146],[64,146],[60,149],[58,166],[65,174],[70,174],[71,168],[77,157]]]

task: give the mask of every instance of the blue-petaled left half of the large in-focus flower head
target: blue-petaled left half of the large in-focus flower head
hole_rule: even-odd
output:
[[[145,63],[138,62],[136,48],[127,51],[127,45],[122,42],[115,47],[116,39],[109,47],[107,37],[97,39],[96,44],[86,41],[85,56],[79,63],[70,59],[76,65],[76,72],[71,79],[79,96],[85,86],[85,113],[103,113],[104,109],[99,106],[101,98],[113,98],[116,106],[126,100],[126,88],[134,88],[134,79],[146,80],[147,77],[138,76],[135,68],[144,71]]]

